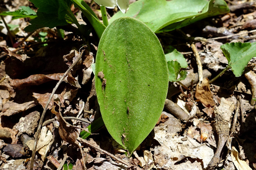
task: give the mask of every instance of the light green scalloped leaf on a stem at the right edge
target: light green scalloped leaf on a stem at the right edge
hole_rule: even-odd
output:
[[[256,57],[256,43],[226,43],[220,48],[236,77],[241,76],[248,62]]]

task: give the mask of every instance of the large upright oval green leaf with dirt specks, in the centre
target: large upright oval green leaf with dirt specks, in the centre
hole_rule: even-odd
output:
[[[95,72],[106,128],[132,153],[152,131],[164,107],[168,68],[161,44],[141,21],[119,18],[100,39]]]

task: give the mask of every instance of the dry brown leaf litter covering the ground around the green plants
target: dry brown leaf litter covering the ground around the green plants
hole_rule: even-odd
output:
[[[176,104],[174,108],[183,111],[171,111],[165,106],[158,124],[131,158],[120,152],[120,149],[114,149],[115,145],[111,142],[113,140],[105,127],[88,137],[90,139],[86,141],[92,145],[85,145],[81,140],[79,142],[82,149],[70,145],[69,143],[78,142],[76,138],[80,128],[86,129],[88,123],[64,120],[59,115],[58,121],[52,120],[40,131],[34,167],[56,169],[67,162],[73,164],[76,169],[86,166],[90,170],[255,169],[255,59],[250,60],[243,76],[236,78],[232,71],[228,70],[214,83],[198,85],[202,87],[200,91],[199,87],[196,87],[198,68],[188,45],[190,37],[206,39],[197,41],[196,47],[204,69],[203,76],[210,79],[228,65],[228,60],[220,50],[222,44],[255,42],[254,34],[248,33],[255,29],[255,7],[251,2],[231,2],[231,12],[226,15],[174,30],[170,35],[158,34],[166,53],[169,53],[168,49],[172,45],[184,54],[188,63],[187,68],[182,68],[188,72],[187,78],[180,81],[188,90],[181,89],[176,82],[169,82],[167,96],[174,104],[177,98],[183,100],[183,108],[188,108],[188,111],[184,111],[180,104]],[[26,23],[25,20],[21,21],[23,25]],[[192,28],[196,31],[192,31]],[[44,31],[48,31],[49,37],[57,37],[56,34],[50,35],[54,33],[52,29]],[[182,32],[188,37],[184,37]],[[19,35],[24,36],[25,32]],[[34,36],[36,35],[34,33]],[[6,35],[0,37],[1,44],[5,44],[0,49],[0,78],[6,77],[0,84],[0,169],[30,167],[30,160],[27,158],[32,154],[40,113],[46,107],[57,81],[80,55],[78,51],[72,51],[72,47],[79,49],[82,45],[79,38],[66,33],[66,37],[68,36],[73,36],[74,39],[66,40],[65,43],[48,43],[46,47],[35,46],[19,50],[7,47],[6,44],[10,42],[6,42]],[[96,46],[97,43],[94,44],[94,47]],[[49,110],[54,107],[55,99],[60,102],[58,113],[62,114],[62,117],[72,116],[93,122],[100,116],[91,67],[96,54],[94,47],[91,46],[92,53],[85,50],[81,61],[62,82],[48,106],[44,121],[54,118]],[[5,76],[6,74],[9,77]],[[22,83],[17,83],[19,80]],[[203,96],[207,98],[202,98]],[[84,107],[81,105],[83,102]],[[75,130],[68,125],[80,128]],[[71,141],[67,134],[63,134],[67,128],[73,130],[70,134],[76,134],[71,137]]]

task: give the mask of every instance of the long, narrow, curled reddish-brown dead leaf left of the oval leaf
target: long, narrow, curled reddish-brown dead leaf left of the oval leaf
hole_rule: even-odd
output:
[[[24,79],[14,79],[10,81],[10,85],[14,88],[24,88],[26,86],[40,85],[52,80],[60,80],[64,73],[55,74],[34,74]]]

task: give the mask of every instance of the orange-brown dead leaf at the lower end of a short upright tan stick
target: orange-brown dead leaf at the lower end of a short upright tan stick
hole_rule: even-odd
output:
[[[213,95],[211,93],[210,84],[207,78],[204,78],[200,85],[197,84],[195,97],[206,107],[214,106]]]

